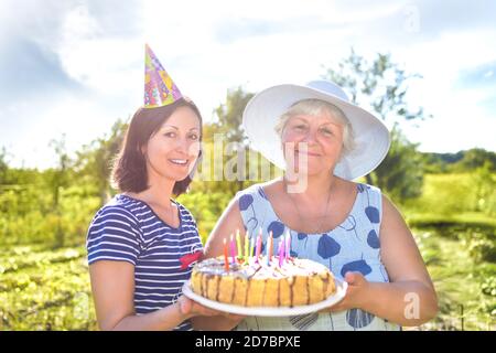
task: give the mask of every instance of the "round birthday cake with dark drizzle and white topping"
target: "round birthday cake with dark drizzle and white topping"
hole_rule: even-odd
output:
[[[226,265],[223,257],[197,263],[192,290],[205,298],[244,307],[298,307],[325,300],[336,290],[333,274],[323,265],[277,256]]]

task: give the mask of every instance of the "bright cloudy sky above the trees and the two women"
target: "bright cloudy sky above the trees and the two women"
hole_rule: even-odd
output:
[[[408,73],[403,124],[421,151],[496,151],[495,1],[0,0],[0,148],[12,167],[55,164],[142,105],[144,43],[205,120],[238,86],[304,84],[349,54]]]

